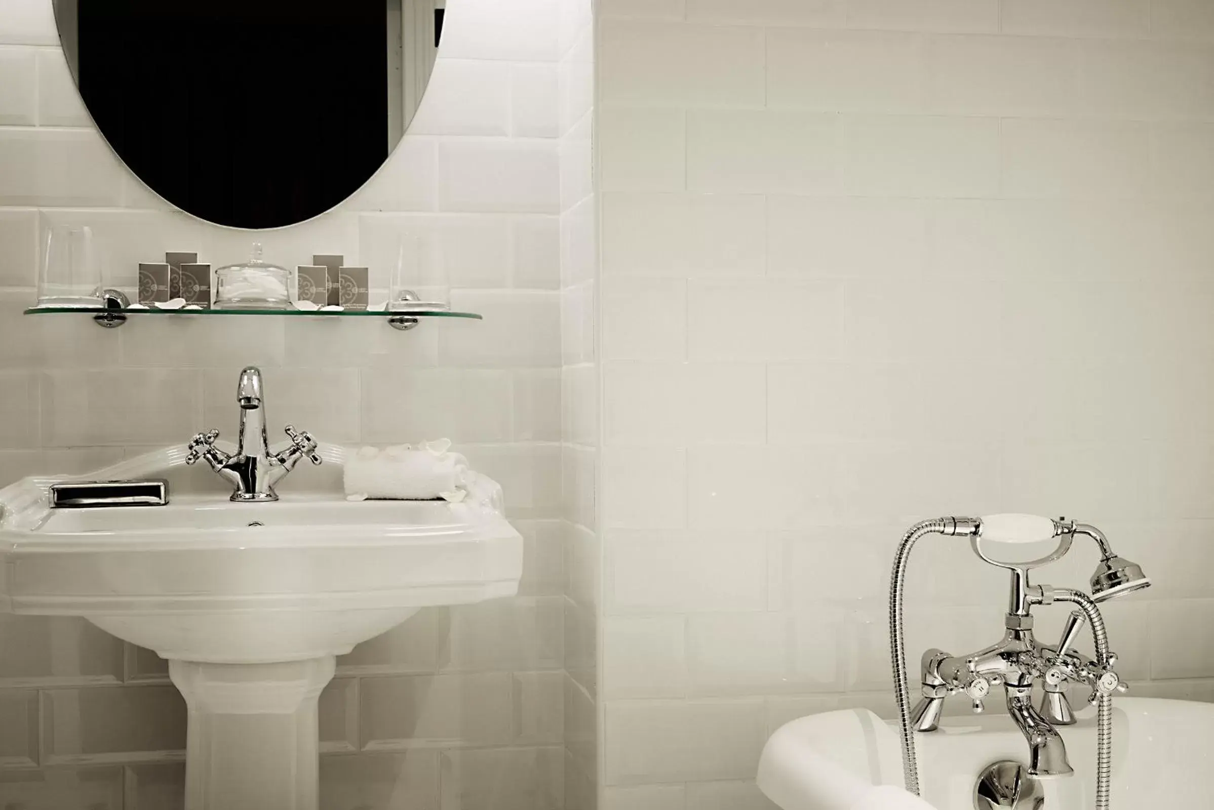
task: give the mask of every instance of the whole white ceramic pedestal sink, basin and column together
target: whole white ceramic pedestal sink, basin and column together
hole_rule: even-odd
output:
[[[183,458],[76,478],[146,478]],[[317,698],[335,657],[420,608],[512,595],[522,571],[522,538],[483,477],[461,503],[334,492],[92,509],[50,509],[53,480],[0,490],[0,609],[84,616],[169,660],[189,709],[187,810],[316,810]]]

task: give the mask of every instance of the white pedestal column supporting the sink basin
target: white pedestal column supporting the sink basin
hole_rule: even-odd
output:
[[[317,810],[317,702],[335,658],[170,661],[186,698],[186,810]]]

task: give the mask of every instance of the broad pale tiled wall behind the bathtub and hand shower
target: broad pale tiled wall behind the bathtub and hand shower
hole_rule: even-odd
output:
[[[1105,527],[1156,582],[1127,675],[1214,698],[1214,6],[597,15],[605,810],[771,808],[775,728],[889,715],[937,514]],[[1003,576],[917,554],[910,649],[989,643]]]

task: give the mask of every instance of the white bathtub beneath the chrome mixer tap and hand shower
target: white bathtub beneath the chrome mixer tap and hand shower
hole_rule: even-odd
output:
[[[1095,709],[1059,730],[1074,775],[1045,780],[1046,810],[1091,810]],[[1002,711],[948,717],[915,735],[923,798],[937,810],[972,810],[978,772],[999,759],[1025,761],[1028,747]],[[1118,697],[1113,701],[1111,810],[1214,808],[1214,703]],[[849,810],[857,786],[902,786],[897,724],[867,709],[793,720],[767,741],[759,788],[783,810]]]

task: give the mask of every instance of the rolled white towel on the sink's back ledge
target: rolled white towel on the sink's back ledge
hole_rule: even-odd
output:
[[[395,501],[463,501],[467,495],[467,460],[448,452],[450,441],[362,447],[346,460],[346,498]]]

